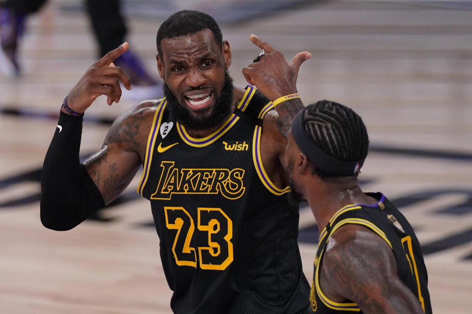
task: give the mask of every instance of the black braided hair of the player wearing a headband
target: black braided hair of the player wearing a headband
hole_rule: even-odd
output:
[[[306,107],[302,121],[308,136],[332,157],[342,161],[355,161],[367,156],[367,130],[360,116],[351,108],[322,100]],[[339,177],[325,173],[316,166],[313,166],[313,173],[322,179]],[[358,173],[353,176],[357,175]]]

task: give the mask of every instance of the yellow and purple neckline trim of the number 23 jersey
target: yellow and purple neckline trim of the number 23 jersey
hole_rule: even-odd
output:
[[[244,96],[241,98],[241,101],[236,106],[236,108],[238,108],[241,111],[246,110],[248,104],[251,102],[251,99],[255,93],[256,93],[255,88],[246,89]],[[204,146],[210,145],[211,143],[215,142],[218,138],[223,136],[227,131],[229,131],[236,124],[238,120],[239,120],[239,117],[236,116],[236,114],[232,113],[230,117],[225,121],[225,123],[221,127],[218,128],[218,130],[202,138],[195,138],[195,137],[190,136],[187,130],[185,130],[185,127],[181,125],[180,123],[177,122],[176,125],[177,125],[177,131],[180,138],[186,144],[193,147],[204,147]]]

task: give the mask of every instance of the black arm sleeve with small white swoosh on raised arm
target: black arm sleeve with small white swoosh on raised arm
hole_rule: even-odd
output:
[[[82,117],[60,112],[41,174],[41,222],[46,228],[70,230],[105,206],[100,191],[80,164],[81,135]]]

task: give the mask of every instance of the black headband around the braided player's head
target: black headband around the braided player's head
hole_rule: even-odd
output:
[[[292,122],[292,135],[302,153],[313,165],[327,174],[339,176],[356,174],[362,167],[365,158],[357,161],[343,161],[324,152],[305,131],[303,126],[303,112],[305,109],[300,110]]]

